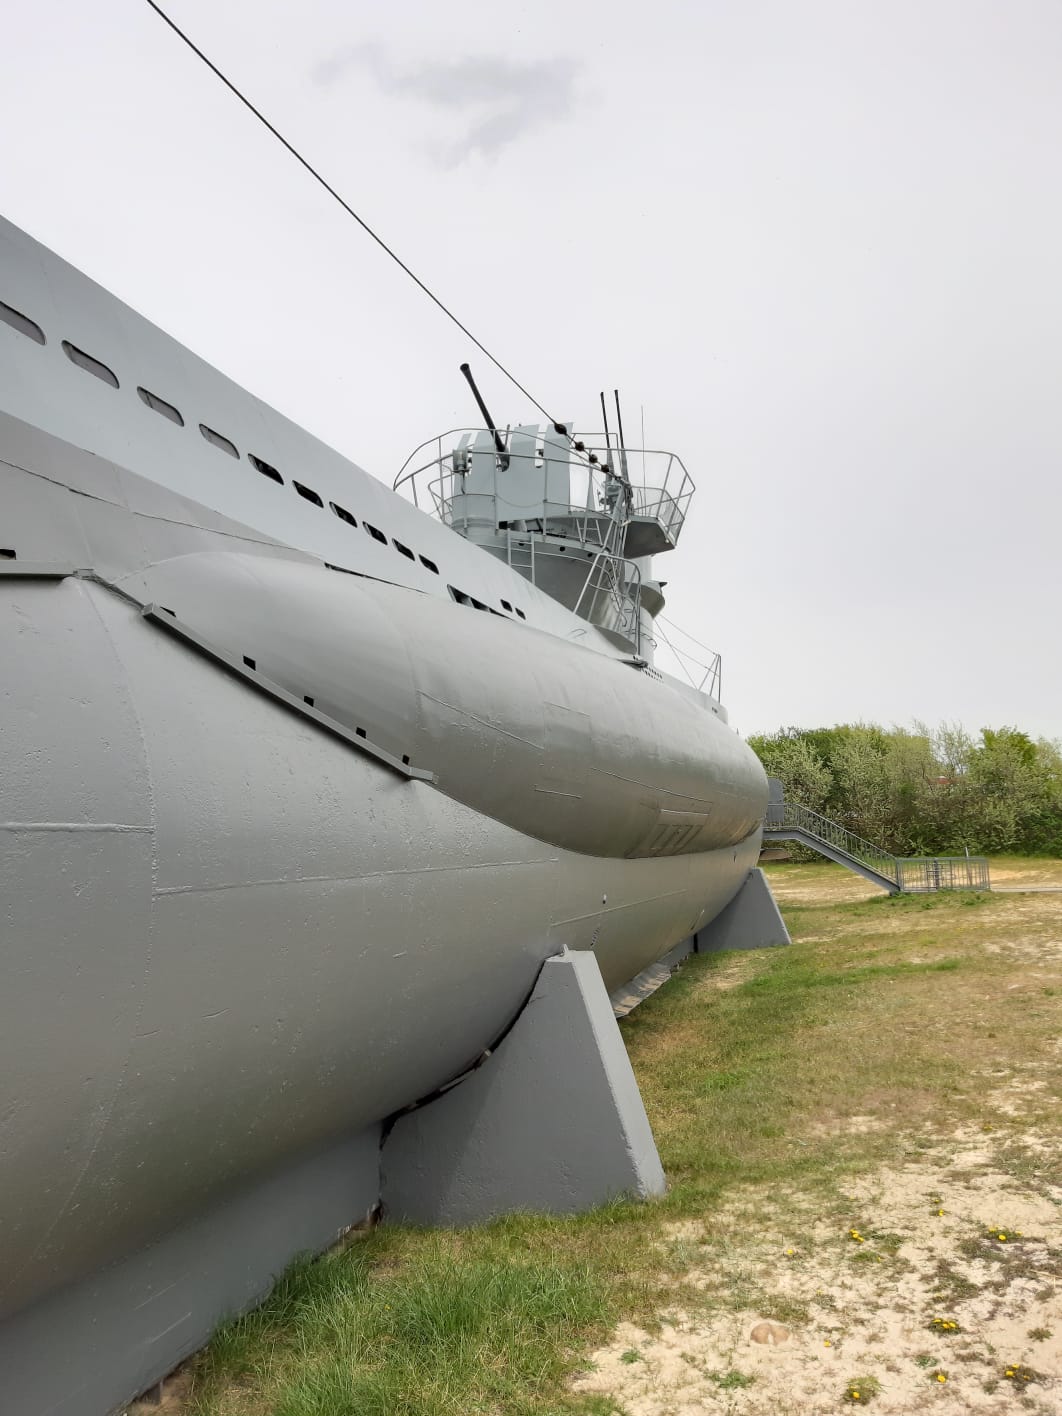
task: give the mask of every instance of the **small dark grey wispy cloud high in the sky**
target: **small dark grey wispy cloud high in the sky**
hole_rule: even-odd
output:
[[[483,55],[399,68],[379,45],[357,44],[321,61],[313,79],[330,88],[353,69],[370,74],[385,93],[466,116],[457,137],[432,144],[433,156],[446,166],[473,154],[491,160],[527,133],[566,118],[575,106],[578,65],[572,59]]]

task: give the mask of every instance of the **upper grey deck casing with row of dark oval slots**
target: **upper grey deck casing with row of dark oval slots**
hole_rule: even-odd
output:
[[[0,411],[112,464],[115,470],[101,469],[112,490],[122,484],[116,469],[132,469],[142,481],[320,561],[446,600],[447,585],[494,609],[507,599],[528,623],[619,657],[592,626],[542,590],[395,496],[1,217],[0,300],[34,320],[47,338],[37,344],[0,320]],[[120,387],[71,362],[64,341],[101,360]],[[149,408],[139,387],[178,408],[184,426]],[[200,425],[231,440],[239,457],[207,442]],[[283,484],[258,472],[251,456],[276,469]],[[300,496],[295,481],[323,506]],[[340,520],[333,504],[358,525]],[[413,552],[412,561],[395,541]]]

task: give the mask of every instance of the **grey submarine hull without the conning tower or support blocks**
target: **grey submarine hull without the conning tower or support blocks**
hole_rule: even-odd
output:
[[[140,432],[118,460],[92,398],[119,389],[61,355],[91,396],[50,398],[44,350],[0,323],[0,1412],[99,1416],[377,1205],[394,1117],[545,960],[615,990],[715,919],[766,782],[718,705],[378,487],[524,622],[402,583],[375,538],[341,564],[330,523],[219,511],[205,436],[190,476]]]

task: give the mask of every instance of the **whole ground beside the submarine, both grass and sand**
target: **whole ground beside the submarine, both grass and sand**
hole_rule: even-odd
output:
[[[1062,895],[769,877],[793,946],[694,957],[622,1024],[666,1198],[358,1235],[164,1409],[1062,1409]]]

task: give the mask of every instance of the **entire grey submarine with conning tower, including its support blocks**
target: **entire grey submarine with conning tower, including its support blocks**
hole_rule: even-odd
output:
[[[690,474],[481,411],[385,486],[0,221],[0,1412],[381,1206],[660,1192],[613,1005],[782,942],[763,770],[654,664]]]

